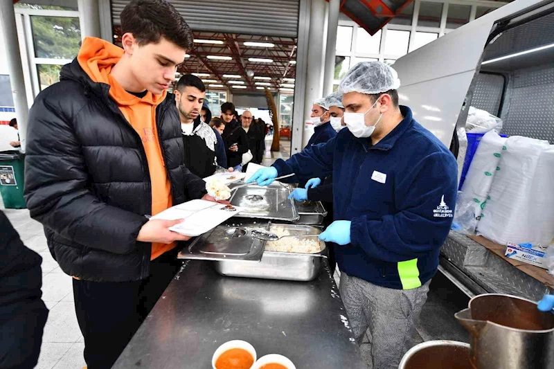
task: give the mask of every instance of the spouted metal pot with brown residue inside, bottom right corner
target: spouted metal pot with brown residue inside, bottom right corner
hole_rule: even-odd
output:
[[[553,369],[554,314],[516,296],[484,294],[454,316],[472,334],[476,369]]]

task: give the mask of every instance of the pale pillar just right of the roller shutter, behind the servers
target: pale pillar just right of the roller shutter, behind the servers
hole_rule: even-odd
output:
[[[304,121],[310,120],[312,103],[323,96],[323,39],[325,39],[325,0],[312,0],[310,33],[308,36],[306,91],[304,98]],[[310,126],[311,127],[311,126]],[[303,146],[313,134],[305,129]]]

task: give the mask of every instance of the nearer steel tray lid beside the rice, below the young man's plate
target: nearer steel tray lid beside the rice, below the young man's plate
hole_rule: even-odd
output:
[[[220,226],[197,237],[179,252],[179,259],[240,260],[259,262],[265,241],[251,235],[249,228],[268,228],[267,221],[229,219]]]

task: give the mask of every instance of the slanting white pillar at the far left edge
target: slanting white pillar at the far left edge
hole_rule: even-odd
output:
[[[21,53],[19,53],[15,12],[12,1],[0,1],[0,26],[3,28],[3,42],[6,45],[6,60],[8,62],[15,116],[19,129],[19,140],[21,141],[21,152],[25,152],[29,107],[27,105],[27,93],[23,78],[23,67],[21,66]]]

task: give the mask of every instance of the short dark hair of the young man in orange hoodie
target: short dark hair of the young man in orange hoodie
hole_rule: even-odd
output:
[[[189,49],[193,33],[177,9],[166,0],[134,0],[120,15],[123,33],[132,33],[139,46],[157,44],[161,37]]]

